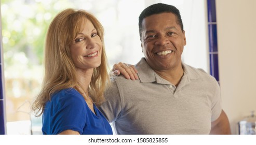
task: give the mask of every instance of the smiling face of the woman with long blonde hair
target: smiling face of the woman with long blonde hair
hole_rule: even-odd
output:
[[[77,69],[96,68],[101,64],[102,41],[90,20],[83,21],[81,30],[70,45],[72,60]]]

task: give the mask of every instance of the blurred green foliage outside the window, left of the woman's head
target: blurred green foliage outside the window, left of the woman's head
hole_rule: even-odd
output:
[[[5,68],[24,63],[42,65],[44,40],[52,18],[69,1],[2,0]]]

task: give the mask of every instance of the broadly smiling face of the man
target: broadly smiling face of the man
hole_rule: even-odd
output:
[[[154,70],[171,70],[181,66],[186,38],[173,13],[159,13],[143,19],[141,36],[146,62]]]

